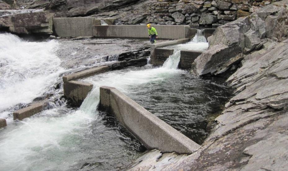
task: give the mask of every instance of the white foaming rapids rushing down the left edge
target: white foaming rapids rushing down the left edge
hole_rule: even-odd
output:
[[[65,72],[54,40],[26,42],[12,34],[0,34],[0,40],[0,111],[31,102]]]

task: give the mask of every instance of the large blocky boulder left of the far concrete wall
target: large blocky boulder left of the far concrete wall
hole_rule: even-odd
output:
[[[9,29],[15,34],[51,35],[53,14],[43,10],[8,11],[0,16],[0,29]]]

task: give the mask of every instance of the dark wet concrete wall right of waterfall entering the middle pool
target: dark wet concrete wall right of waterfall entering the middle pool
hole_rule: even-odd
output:
[[[192,63],[200,54],[202,54],[201,51],[181,50],[178,67],[181,69],[191,69]]]

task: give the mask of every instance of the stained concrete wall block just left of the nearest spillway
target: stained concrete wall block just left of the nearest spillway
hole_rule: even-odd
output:
[[[80,106],[82,104],[92,88],[93,84],[79,81],[68,81],[64,82],[63,85],[65,98],[70,100],[76,106]]]

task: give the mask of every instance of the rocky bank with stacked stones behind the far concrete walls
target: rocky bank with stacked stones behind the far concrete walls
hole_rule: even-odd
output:
[[[5,0],[0,1],[0,30],[16,34],[51,34],[52,17],[75,16],[113,17],[116,19],[116,25],[153,23],[211,28],[234,21],[242,16],[248,16],[251,12],[276,1],[279,0],[106,0],[97,2]],[[2,15],[11,13],[5,11],[7,9],[19,9],[17,4],[25,9],[45,9],[45,12]],[[15,17],[16,20],[12,20],[11,17]],[[38,19],[37,22],[36,19]],[[39,23],[41,24],[39,25]]]

